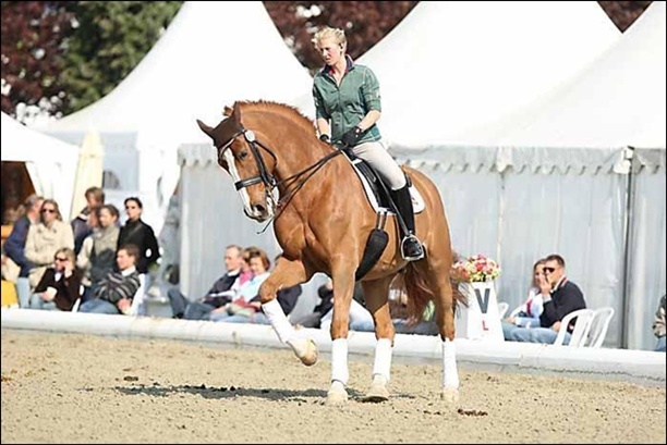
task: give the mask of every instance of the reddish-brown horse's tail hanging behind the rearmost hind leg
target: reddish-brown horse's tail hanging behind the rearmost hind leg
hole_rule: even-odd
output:
[[[459,304],[468,307],[468,298],[461,294],[457,283],[450,281],[450,284],[453,299],[452,310],[456,311]],[[409,262],[403,270],[403,285],[408,294],[408,323],[416,324],[422,321],[426,305],[435,298],[435,294],[422,269],[412,262]]]

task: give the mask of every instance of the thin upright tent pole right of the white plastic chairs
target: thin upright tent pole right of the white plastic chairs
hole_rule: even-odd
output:
[[[622,310],[621,317],[621,348],[627,349],[628,342],[628,319],[630,318],[630,281],[631,271],[630,262],[632,260],[632,254],[630,251],[632,226],[634,224],[634,182],[633,182],[633,170],[634,170],[634,147],[626,147],[623,150],[623,159],[629,164],[628,182],[626,188],[626,214],[623,218],[623,273],[622,273]]]

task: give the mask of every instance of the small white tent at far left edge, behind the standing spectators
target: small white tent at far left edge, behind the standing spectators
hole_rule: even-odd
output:
[[[2,113],[2,161],[25,162],[35,193],[70,215],[78,147],[31,129]]]

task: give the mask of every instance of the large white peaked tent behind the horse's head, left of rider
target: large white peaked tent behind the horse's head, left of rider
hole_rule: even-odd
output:
[[[207,141],[196,119],[215,125],[235,100],[290,102],[311,83],[262,2],[186,1],[116,89],[40,129],[75,143],[98,131],[116,194],[138,191],[159,230],[178,181],[178,147]]]

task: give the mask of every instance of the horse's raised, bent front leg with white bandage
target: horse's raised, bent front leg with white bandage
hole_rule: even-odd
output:
[[[259,287],[262,310],[271,323],[280,342],[288,344],[301,362],[312,366],[317,362],[317,345],[311,338],[298,336],[294,326],[287,319],[284,311],[278,302],[277,293],[280,287],[290,287],[304,283],[310,279],[301,261],[290,261],[280,257],[274,272]]]

